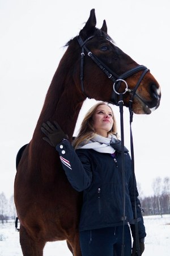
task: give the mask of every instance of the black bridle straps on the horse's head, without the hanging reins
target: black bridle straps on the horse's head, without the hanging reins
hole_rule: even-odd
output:
[[[113,91],[112,91],[112,96],[111,96],[111,103],[113,103],[114,105],[119,105],[118,100],[117,100],[117,96],[120,94],[125,94],[126,92],[131,92],[131,98],[130,98],[130,105],[132,104],[133,101],[133,97],[136,94],[136,91],[138,89],[138,86],[141,84],[141,81],[143,79],[143,77],[146,75],[146,73],[149,71],[149,69],[147,69],[145,66],[143,65],[138,65],[135,68],[131,68],[128,71],[126,71],[125,73],[123,73],[122,75],[118,76],[116,73],[114,73],[110,68],[107,67],[107,65],[105,65],[103,63],[103,61],[101,61],[96,55],[94,55],[94,53],[92,53],[91,51],[89,51],[89,49],[86,47],[86,43],[95,38],[96,36],[90,36],[90,38],[87,38],[84,42],[82,40],[82,38],[80,36],[77,37],[78,42],[80,47],[82,48],[82,52],[81,52],[81,63],[80,63],[80,81],[81,81],[81,86],[82,86],[82,92],[84,93],[84,95],[86,97],[88,97],[86,95],[86,93],[84,92],[84,84],[83,84],[83,65],[84,65],[84,50],[87,52],[87,55],[89,57],[91,57],[91,59],[97,64],[97,66],[105,73],[105,75],[107,75],[107,77],[109,79],[111,79],[114,84],[113,84]],[[109,40],[108,38],[105,38],[107,40]],[[135,88],[129,89],[128,88],[128,84],[125,81],[125,79],[131,75],[133,75],[134,73],[137,73],[139,71],[143,71],[141,77],[139,78],[137,84],[135,85]],[[125,91],[122,93],[119,93],[118,90],[120,88],[120,84],[121,82],[124,82],[126,85]]]

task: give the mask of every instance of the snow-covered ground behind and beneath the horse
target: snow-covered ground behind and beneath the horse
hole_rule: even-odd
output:
[[[170,214],[144,217],[146,226],[145,252],[142,256],[169,256],[170,251]],[[72,256],[65,241],[48,242],[44,256]],[[0,256],[22,256],[19,232],[14,223],[0,224]]]

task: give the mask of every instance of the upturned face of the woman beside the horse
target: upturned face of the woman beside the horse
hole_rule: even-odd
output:
[[[113,114],[111,108],[107,105],[100,105],[92,116],[94,129],[97,134],[108,137],[108,132],[113,126]]]

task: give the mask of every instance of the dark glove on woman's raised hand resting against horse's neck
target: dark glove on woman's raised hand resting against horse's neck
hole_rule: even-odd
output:
[[[41,131],[47,136],[42,139],[53,147],[56,147],[62,139],[68,139],[68,136],[63,132],[56,121],[54,121],[54,125],[49,121],[42,123]]]

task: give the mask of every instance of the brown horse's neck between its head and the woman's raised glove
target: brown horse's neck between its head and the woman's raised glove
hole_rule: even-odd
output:
[[[73,55],[73,52],[77,52],[74,44],[67,48],[58,65],[46,94],[44,106],[33,134],[33,141],[42,138],[41,125],[46,121],[57,121],[61,129],[69,135],[69,139],[72,139],[76,120],[85,100],[81,91],[76,88],[76,84],[80,83],[79,65],[75,67],[79,53]],[[78,81],[75,84],[76,72]]]

